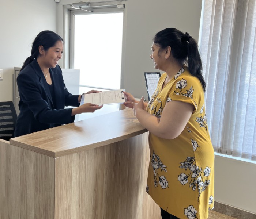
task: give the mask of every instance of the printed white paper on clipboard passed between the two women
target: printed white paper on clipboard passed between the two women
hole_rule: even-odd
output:
[[[123,91],[125,90],[120,89],[114,91],[102,91],[99,93],[84,94],[81,97],[80,105],[84,103],[92,103],[97,105],[124,103],[126,100]]]

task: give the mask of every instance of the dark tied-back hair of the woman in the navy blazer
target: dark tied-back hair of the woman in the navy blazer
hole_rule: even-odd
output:
[[[53,31],[44,30],[42,32],[39,32],[39,34],[35,37],[34,42],[32,44],[31,55],[27,57],[20,70],[25,68],[28,64],[30,64],[30,62],[32,62],[35,58],[37,58],[40,55],[38,49],[39,46],[43,46],[44,50],[47,51],[50,47],[54,46],[55,43],[59,40],[64,42],[60,35],[54,33]]]

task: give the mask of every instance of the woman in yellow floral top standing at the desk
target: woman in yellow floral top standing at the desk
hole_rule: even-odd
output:
[[[188,33],[167,28],[155,35],[151,49],[155,69],[166,72],[151,100],[136,101],[124,92],[125,105],[150,132],[146,191],[163,219],[206,219],[214,206],[214,151],[197,43]]]

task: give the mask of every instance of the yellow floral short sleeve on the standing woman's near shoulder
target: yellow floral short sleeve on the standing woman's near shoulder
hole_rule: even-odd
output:
[[[181,101],[194,106],[193,114],[197,111],[198,103],[202,98],[202,85],[198,78],[184,72],[174,80],[168,94],[167,102]]]

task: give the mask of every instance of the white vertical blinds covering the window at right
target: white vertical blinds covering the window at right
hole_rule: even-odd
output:
[[[256,1],[203,1],[199,45],[215,151],[256,161]]]

